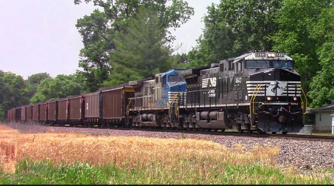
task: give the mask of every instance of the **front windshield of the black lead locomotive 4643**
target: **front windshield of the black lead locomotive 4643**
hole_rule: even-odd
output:
[[[293,68],[291,60],[246,60],[246,68]]]

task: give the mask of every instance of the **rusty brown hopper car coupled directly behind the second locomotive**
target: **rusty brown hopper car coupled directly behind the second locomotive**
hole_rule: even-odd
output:
[[[123,125],[129,98],[135,97],[132,86],[123,86],[102,91],[102,118],[105,125]]]

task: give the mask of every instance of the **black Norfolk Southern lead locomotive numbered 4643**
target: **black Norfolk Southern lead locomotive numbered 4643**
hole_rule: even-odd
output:
[[[179,126],[259,133],[303,127],[307,101],[285,53],[250,52],[180,75],[187,83],[186,100],[171,117]]]

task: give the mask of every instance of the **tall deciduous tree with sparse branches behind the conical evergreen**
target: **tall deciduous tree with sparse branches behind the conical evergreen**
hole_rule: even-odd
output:
[[[116,49],[116,35],[124,33],[131,18],[137,16],[140,7],[151,7],[157,12],[161,24],[165,28],[177,28],[193,15],[193,8],[182,0],[173,0],[166,6],[167,0],[85,0],[93,2],[98,9],[89,16],[77,20],[76,27],[82,36],[84,48],[80,50],[79,66],[83,68],[82,75],[87,81],[89,91],[97,90],[113,73],[115,63],[111,63],[110,54]],[[74,4],[81,0],[74,0]],[[175,38],[168,34],[168,42]],[[117,72],[116,72],[117,73]]]

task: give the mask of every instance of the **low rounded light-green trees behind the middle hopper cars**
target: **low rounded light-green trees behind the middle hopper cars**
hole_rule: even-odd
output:
[[[30,103],[34,104],[50,99],[79,95],[84,91],[83,88],[83,80],[78,76],[59,74],[55,78],[42,80],[36,94],[30,99]]]

